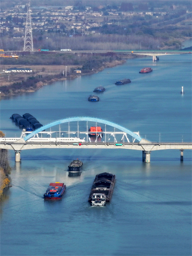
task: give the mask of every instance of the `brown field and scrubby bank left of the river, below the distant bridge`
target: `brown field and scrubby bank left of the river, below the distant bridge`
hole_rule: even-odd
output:
[[[74,79],[79,76],[98,73],[105,68],[120,65],[126,62],[126,59],[135,58],[134,55],[124,56],[119,60],[103,62],[102,65],[96,65],[92,69],[82,69],[83,65],[3,65],[3,69],[24,68],[32,69],[32,73],[3,73],[1,74],[0,96],[11,96],[24,92],[34,92],[42,86],[51,84],[59,80]],[[76,73],[75,69],[82,69],[82,73]]]

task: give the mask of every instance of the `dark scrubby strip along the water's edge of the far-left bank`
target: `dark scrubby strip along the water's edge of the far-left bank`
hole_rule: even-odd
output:
[[[130,57],[126,57],[126,59],[130,58]],[[51,84],[56,81],[66,80],[66,79],[74,79],[78,76],[95,74],[95,73],[98,73],[98,72],[104,70],[105,68],[123,64],[126,62],[126,59],[124,58],[121,60],[113,60],[111,62],[106,62],[106,63],[103,63],[103,65],[98,68],[94,68],[90,71],[84,71],[81,74],[76,74],[76,73],[68,74],[67,77],[64,77],[61,72],[59,74],[57,73],[55,75],[54,74],[49,75],[47,73],[47,75],[46,74],[43,76],[38,75],[35,77],[28,77],[27,79],[25,77],[25,81],[22,80],[22,77],[19,77],[18,80],[16,79],[14,81],[14,83],[12,83],[12,84],[0,86],[0,97],[2,98],[2,97],[6,97],[6,96],[21,94],[24,92],[34,92],[34,91],[40,89],[41,87],[43,87],[44,85]],[[27,68],[27,66],[25,66],[25,67]],[[47,69],[49,68],[49,66],[46,66],[46,67],[47,67]],[[62,69],[63,69],[63,66],[62,66],[61,70]]]

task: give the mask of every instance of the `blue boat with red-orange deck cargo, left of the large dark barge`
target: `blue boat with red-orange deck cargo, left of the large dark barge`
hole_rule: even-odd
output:
[[[64,183],[55,182],[50,183],[47,191],[44,194],[45,199],[61,199],[63,193],[66,190]]]

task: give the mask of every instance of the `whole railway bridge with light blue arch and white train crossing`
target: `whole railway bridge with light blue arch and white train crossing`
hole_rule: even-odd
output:
[[[71,122],[77,122],[71,129]],[[81,131],[79,128],[81,122]],[[85,122],[85,123],[84,123]],[[105,125],[102,132],[96,132],[90,137],[88,122],[95,127]],[[67,129],[61,130],[61,124],[68,124]],[[59,126],[57,131],[52,128]],[[93,126],[93,125],[92,125]],[[110,127],[110,128],[108,128]],[[112,128],[112,130],[111,130]],[[50,130],[48,130],[50,129]],[[108,130],[110,129],[110,131]],[[80,139],[80,136],[84,136]],[[73,136],[73,137],[72,137]],[[0,138],[0,149],[14,150],[15,162],[21,161],[21,151],[29,149],[130,149],[143,152],[143,162],[150,163],[150,153],[155,150],[180,150],[180,160],[183,161],[183,151],[192,150],[192,142],[151,142],[142,138],[139,132],[132,132],[116,123],[89,116],[69,117],[54,121],[33,132],[23,130],[21,138]]]

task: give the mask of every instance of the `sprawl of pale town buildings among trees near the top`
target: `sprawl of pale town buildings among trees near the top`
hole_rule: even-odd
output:
[[[119,17],[126,18],[134,15],[165,15],[165,12],[122,12],[117,10],[102,11],[104,6],[98,6],[94,11],[89,6],[84,10],[77,7],[33,7],[31,6],[32,28],[37,31],[60,32],[69,34],[87,35],[95,33],[96,27],[104,24],[112,24]],[[0,12],[0,33],[12,32],[13,38],[20,38],[24,35],[27,7],[18,3],[14,8],[7,8]],[[106,14],[107,13],[107,14]],[[107,16],[106,16],[107,15]],[[102,18],[103,16],[103,18]]]

